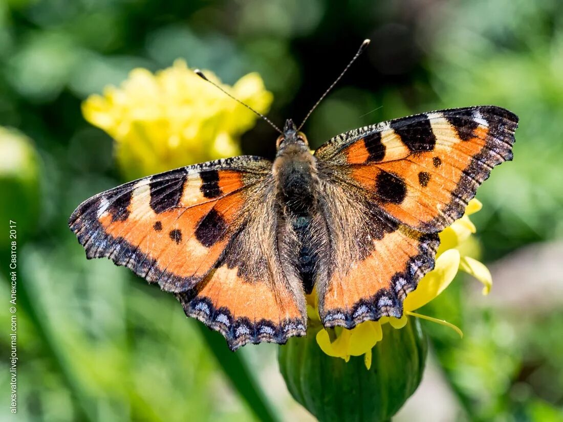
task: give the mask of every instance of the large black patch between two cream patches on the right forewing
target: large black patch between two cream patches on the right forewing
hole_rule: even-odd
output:
[[[436,146],[436,136],[425,114],[392,120],[390,126],[412,152],[432,151]]]

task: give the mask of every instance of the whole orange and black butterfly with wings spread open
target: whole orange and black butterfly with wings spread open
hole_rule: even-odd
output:
[[[512,159],[517,122],[495,106],[433,111],[311,154],[287,120],[273,163],[238,156],[125,183],[84,201],[69,226],[88,258],[174,293],[233,350],[305,335],[313,288],[324,326],[350,329],[403,315],[438,232]]]

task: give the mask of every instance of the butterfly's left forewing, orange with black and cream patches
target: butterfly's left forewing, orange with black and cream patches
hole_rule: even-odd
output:
[[[69,226],[88,258],[108,257],[163,290],[203,279],[244,213],[260,168],[229,161],[182,167],[125,183],[84,201]]]

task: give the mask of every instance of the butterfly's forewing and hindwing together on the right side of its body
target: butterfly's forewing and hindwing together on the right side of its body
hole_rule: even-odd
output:
[[[335,214],[336,259],[318,286],[325,325],[402,315],[405,295],[434,268],[437,232],[463,215],[495,165],[512,159],[517,122],[494,106],[435,111],[356,129],[315,152]],[[339,227],[351,204],[357,216]]]

